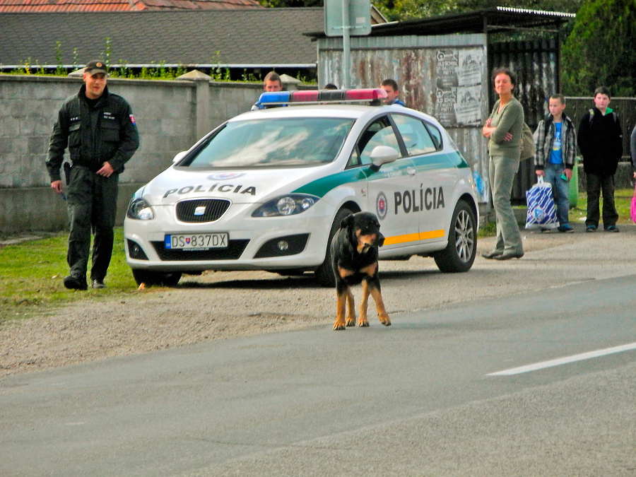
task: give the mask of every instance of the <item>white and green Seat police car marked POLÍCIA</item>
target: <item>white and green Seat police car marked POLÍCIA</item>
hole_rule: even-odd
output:
[[[329,243],[370,211],[380,259],[429,256],[444,272],[475,259],[471,167],[435,118],[382,105],[382,89],[263,93],[132,197],[126,259],[137,283],[183,273],[313,272],[334,285]],[[277,107],[274,107],[277,106]]]

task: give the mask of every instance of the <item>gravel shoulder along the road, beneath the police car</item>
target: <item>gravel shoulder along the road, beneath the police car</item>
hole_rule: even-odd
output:
[[[402,312],[529,291],[540,300],[546,288],[635,273],[636,225],[622,225],[615,234],[575,227],[574,234],[522,231],[525,257],[495,262],[478,255],[468,273],[440,273],[435,261],[423,257],[381,261],[389,316],[396,322]],[[478,254],[493,243],[494,238],[479,240]],[[354,294],[359,301],[360,288]],[[334,290],[315,285],[311,277],[252,271],[186,277],[177,288],[139,290],[119,300],[87,298],[0,325],[0,377],[310,326],[333,332],[335,302]],[[381,326],[372,300],[369,310],[371,326]]]

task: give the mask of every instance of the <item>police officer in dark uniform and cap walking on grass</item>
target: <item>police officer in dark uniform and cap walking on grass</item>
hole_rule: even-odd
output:
[[[86,269],[93,242],[90,281],[93,288],[105,288],[110,264],[113,228],[117,212],[117,184],[124,164],[139,148],[139,133],[131,107],[121,96],[108,92],[106,66],[93,60],[86,64],[84,84],[77,95],[61,106],[49,143],[47,170],[51,187],[62,194],[61,165],[68,146],[71,167],[66,163],[69,250],[66,261],[71,273],[64,286],[86,290]]]

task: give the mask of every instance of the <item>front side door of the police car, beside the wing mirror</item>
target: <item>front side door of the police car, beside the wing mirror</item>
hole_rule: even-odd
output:
[[[376,146],[395,148],[401,157],[373,171],[368,166],[371,164],[371,151]],[[385,237],[385,252],[418,241],[418,217],[412,199],[416,187],[416,168],[413,167],[413,161],[405,156],[394,124],[385,114],[366,126],[350,159],[351,167],[364,167],[367,175],[367,210],[379,218]]]

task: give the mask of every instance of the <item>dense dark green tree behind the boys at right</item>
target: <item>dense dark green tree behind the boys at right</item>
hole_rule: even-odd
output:
[[[561,78],[571,96],[607,86],[636,95],[636,0],[585,0],[563,47]]]

